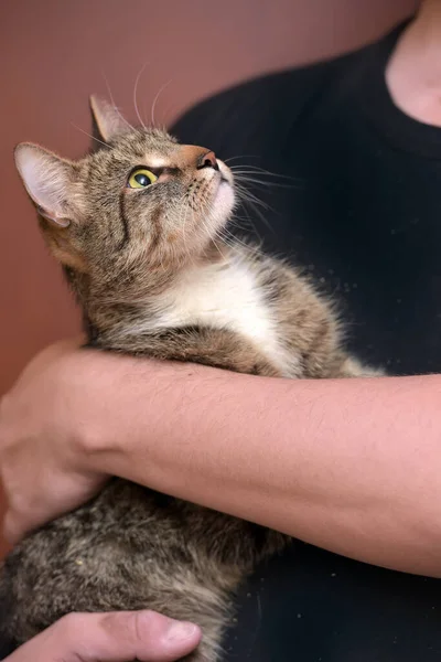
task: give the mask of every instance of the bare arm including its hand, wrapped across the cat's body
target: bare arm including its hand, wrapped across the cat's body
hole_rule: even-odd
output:
[[[110,474],[441,576],[441,376],[289,381],[55,348],[2,403],[12,538]]]

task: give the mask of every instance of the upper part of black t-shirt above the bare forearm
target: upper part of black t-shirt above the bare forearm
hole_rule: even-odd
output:
[[[441,129],[388,97],[395,40],[227,90],[175,129],[262,181],[248,186],[270,209],[246,205],[240,226],[335,297],[352,351],[441,372]]]

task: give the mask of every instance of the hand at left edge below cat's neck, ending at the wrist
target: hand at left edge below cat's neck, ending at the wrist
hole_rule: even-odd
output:
[[[75,439],[86,409],[82,397],[87,394],[82,396],[82,392],[87,392],[92,381],[87,372],[92,353],[79,344],[76,339],[44,350],[0,402],[0,478],[7,500],[3,533],[12,544],[28,531],[82,505],[108,478],[82,465]]]

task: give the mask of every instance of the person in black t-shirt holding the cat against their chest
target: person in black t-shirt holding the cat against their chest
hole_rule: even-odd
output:
[[[426,0],[375,44],[174,127],[283,184],[250,182],[272,207],[255,231],[336,296],[351,351],[397,376],[269,380],[54,345],[1,403],[12,542],[120,476],[303,541],[243,588],[228,660],[439,659],[440,36]]]

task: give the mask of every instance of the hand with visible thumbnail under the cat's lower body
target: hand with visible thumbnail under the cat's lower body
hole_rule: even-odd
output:
[[[71,613],[4,662],[172,662],[200,641],[197,626],[153,611]]]

